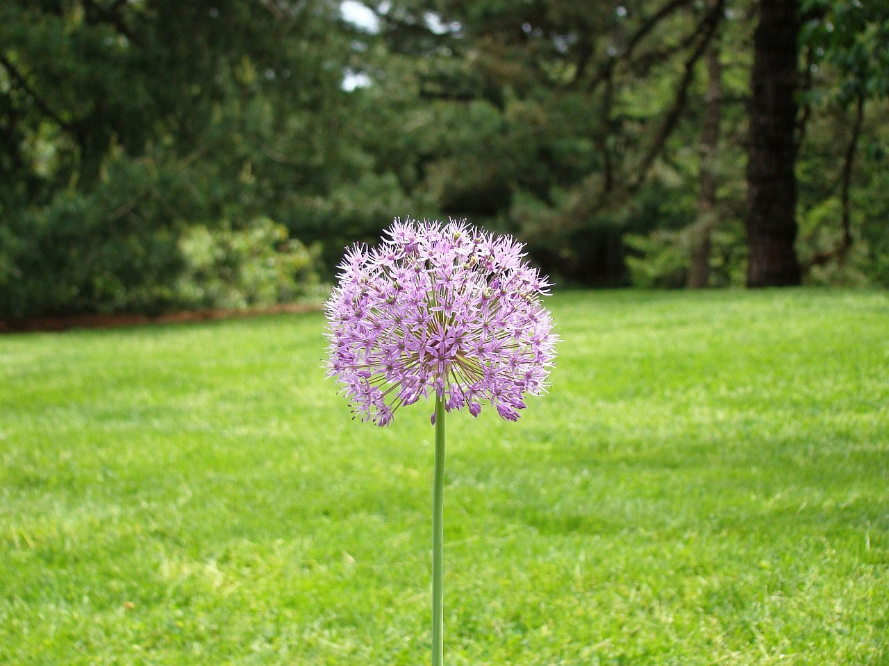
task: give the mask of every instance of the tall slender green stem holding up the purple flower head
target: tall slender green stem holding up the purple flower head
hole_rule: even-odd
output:
[[[432,666],[445,663],[445,400],[436,397],[436,466],[432,481]]]

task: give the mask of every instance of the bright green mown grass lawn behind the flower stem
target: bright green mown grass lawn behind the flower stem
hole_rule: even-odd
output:
[[[574,292],[448,421],[445,662],[889,663],[889,297]],[[0,663],[428,662],[431,403],[321,314],[0,337]]]

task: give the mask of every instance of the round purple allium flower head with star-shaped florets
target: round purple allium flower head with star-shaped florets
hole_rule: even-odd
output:
[[[324,304],[327,376],[378,425],[430,394],[478,416],[517,420],[547,388],[555,358],[549,282],[525,246],[466,220],[396,218],[380,245],[355,245]],[[434,416],[434,415],[433,415]]]

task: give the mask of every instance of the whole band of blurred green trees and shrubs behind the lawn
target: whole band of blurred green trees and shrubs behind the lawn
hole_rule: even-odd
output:
[[[395,215],[564,284],[889,285],[889,2],[0,5],[0,317],[310,297]]]

